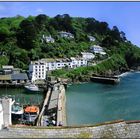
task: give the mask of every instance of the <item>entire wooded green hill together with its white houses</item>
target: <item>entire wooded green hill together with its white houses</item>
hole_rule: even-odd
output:
[[[19,73],[28,75],[32,82],[45,80],[50,73],[74,79],[92,73],[121,73],[140,64],[140,49],[125,33],[94,18],[40,14],[1,18],[0,26],[1,71],[3,66],[20,68]],[[1,75],[1,82],[14,81],[3,72]]]

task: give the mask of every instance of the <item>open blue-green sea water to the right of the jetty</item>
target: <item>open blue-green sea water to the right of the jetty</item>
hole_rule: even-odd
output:
[[[66,97],[68,125],[140,120],[140,73],[123,76],[118,85],[71,85]]]

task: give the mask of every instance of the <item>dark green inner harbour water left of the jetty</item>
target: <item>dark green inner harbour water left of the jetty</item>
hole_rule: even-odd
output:
[[[0,88],[0,97],[12,97],[21,105],[40,105],[43,101],[43,93],[29,93],[24,88]]]

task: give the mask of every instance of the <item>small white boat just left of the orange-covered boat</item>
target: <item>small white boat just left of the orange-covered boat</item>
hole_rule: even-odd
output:
[[[23,107],[19,103],[14,103],[12,105],[12,111],[11,113],[13,115],[22,115],[24,112]]]

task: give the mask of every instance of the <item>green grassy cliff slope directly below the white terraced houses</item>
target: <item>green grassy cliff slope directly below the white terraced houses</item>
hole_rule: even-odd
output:
[[[95,66],[79,67],[76,69],[61,69],[53,71],[52,75],[69,78],[74,81],[88,81],[92,74],[114,75],[128,69],[126,60],[119,54],[112,55],[109,59]]]

